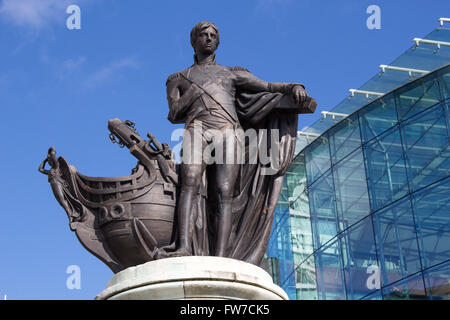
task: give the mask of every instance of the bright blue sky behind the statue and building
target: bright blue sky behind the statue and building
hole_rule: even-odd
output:
[[[66,7],[81,8],[81,30]],[[369,30],[366,9],[381,8]],[[217,61],[274,82],[301,82],[330,110],[450,16],[448,0],[0,0],[0,298],[92,299],[112,272],[70,232],[45,176],[49,146],[91,176],[128,175],[135,159],[108,139],[107,120],[136,122],[169,142],[165,81],[192,64],[189,32],[210,20]],[[81,269],[81,289],[66,269]]]

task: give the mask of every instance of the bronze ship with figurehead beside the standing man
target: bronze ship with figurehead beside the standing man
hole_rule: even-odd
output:
[[[56,158],[53,148],[39,170],[49,176],[82,245],[117,273],[174,249],[178,176],[167,144],[151,134],[143,139],[130,121],[109,120],[108,129],[111,140],[138,159],[131,175],[82,175],[63,157]]]

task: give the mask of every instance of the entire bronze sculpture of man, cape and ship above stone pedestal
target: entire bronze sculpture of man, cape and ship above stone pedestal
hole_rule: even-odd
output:
[[[111,140],[138,159],[130,176],[82,175],[57,158],[54,148],[39,167],[80,242],[115,273],[184,255],[259,265],[294,154],[298,114],[312,113],[317,105],[301,84],[265,82],[245,68],[217,64],[219,32],[211,22],[192,29],[191,44],[194,65],[166,83],[168,119],[185,123],[180,164],[168,144],[150,133],[145,140],[131,121],[112,119]],[[239,161],[255,152],[245,135],[249,130],[278,163],[272,158],[266,163],[259,155],[253,162]],[[260,139],[264,133],[275,138],[266,142]],[[211,162],[219,153],[225,161]]]

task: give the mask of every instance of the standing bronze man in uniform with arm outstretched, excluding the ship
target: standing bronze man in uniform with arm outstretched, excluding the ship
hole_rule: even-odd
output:
[[[203,151],[216,138],[208,136],[208,130],[220,131],[222,135],[220,146],[225,158],[228,159],[228,153],[239,154],[243,150],[239,148],[242,143],[238,141],[236,134],[225,134],[227,129],[259,128],[261,125],[267,127],[269,117],[276,117],[277,113],[282,112],[282,108],[288,107],[291,109],[289,112],[294,112],[290,115],[291,122],[295,122],[288,131],[291,131],[291,139],[295,139],[297,129],[294,120],[295,114],[314,111],[312,108],[305,108],[307,94],[300,84],[265,82],[253,76],[247,69],[230,68],[217,64],[214,52],[219,42],[219,31],[213,23],[207,21],[198,23],[191,31],[191,45],[195,51],[194,65],[171,75],[167,80],[167,99],[170,108],[168,119],[172,123],[185,123],[185,130],[189,137],[195,136],[194,130],[197,123],[200,126],[201,135],[200,143],[189,141],[183,145],[185,161],[181,163],[180,168],[181,192],[177,206],[179,238],[178,250],[175,255],[205,253],[205,246],[202,250],[196,244],[198,241],[193,242],[191,220],[196,215],[195,211],[198,210],[196,207],[199,190],[207,168]],[[283,94],[292,96],[293,103],[290,106],[279,105],[279,98]],[[255,101],[249,103],[249,99],[255,99]],[[310,105],[306,107],[308,106],[311,107]],[[280,124],[280,128],[272,129],[283,129],[283,126],[286,124]],[[288,144],[292,144],[290,148],[293,148],[295,141],[290,141]],[[186,153],[189,153],[188,157],[186,157]],[[196,162],[194,157],[198,154],[201,155],[201,161]],[[290,154],[291,152],[286,155],[285,161],[290,162]],[[238,226],[241,222],[238,219],[233,222],[233,215],[238,215],[237,210],[233,212],[233,202],[242,201],[239,200],[243,198],[240,194],[246,192],[243,184],[246,181],[241,181],[240,186],[237,186],[241,165],[236,162],[215,163],[206,179],[213,189],[207,196],[210,202],[207,221],[214,221],[214,226],[211,227],[215,229],[212,232],[213,239],[211,240],[213,241],[210,241],[213,248],[206,250],[208,254],[216,256],[245,258],[250,254],[238,253],[236,248],[241,245],[232,244],[233,238],[239,236]],[[256,172],[254,174],[257,175]],[[242,177],[241,175],[240,178],[242,179]],[[266,187],[266,190],[261,190],[261,192],[268,194],[270,189],[271,187]],[[214,200],[216,203],[212,203]],[[246,215],[253,215],[252,211],[254,210],[272,210],[272,205],[260,208],[252,207]],[[245,220],[245,218],[243,219]],[[269,224],[269,222],[266,223]],[[249,226],[249,228],[252,227]],[[250,232],[250,230],[248,231]],[[261,234],[256,237],[257,242],[265,243],[268,237],[268,233],[264,236]],[[258,262],[262,258],[264,250],[264,245],[256,251],[252,250],[255,258],[250,258],[250,260]]]

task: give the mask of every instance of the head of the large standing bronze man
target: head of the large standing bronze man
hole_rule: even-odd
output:
[[[197,23],[191,31],[191,45],[195,54],[209,55],[219,46],[219,30],[212,22]]]

